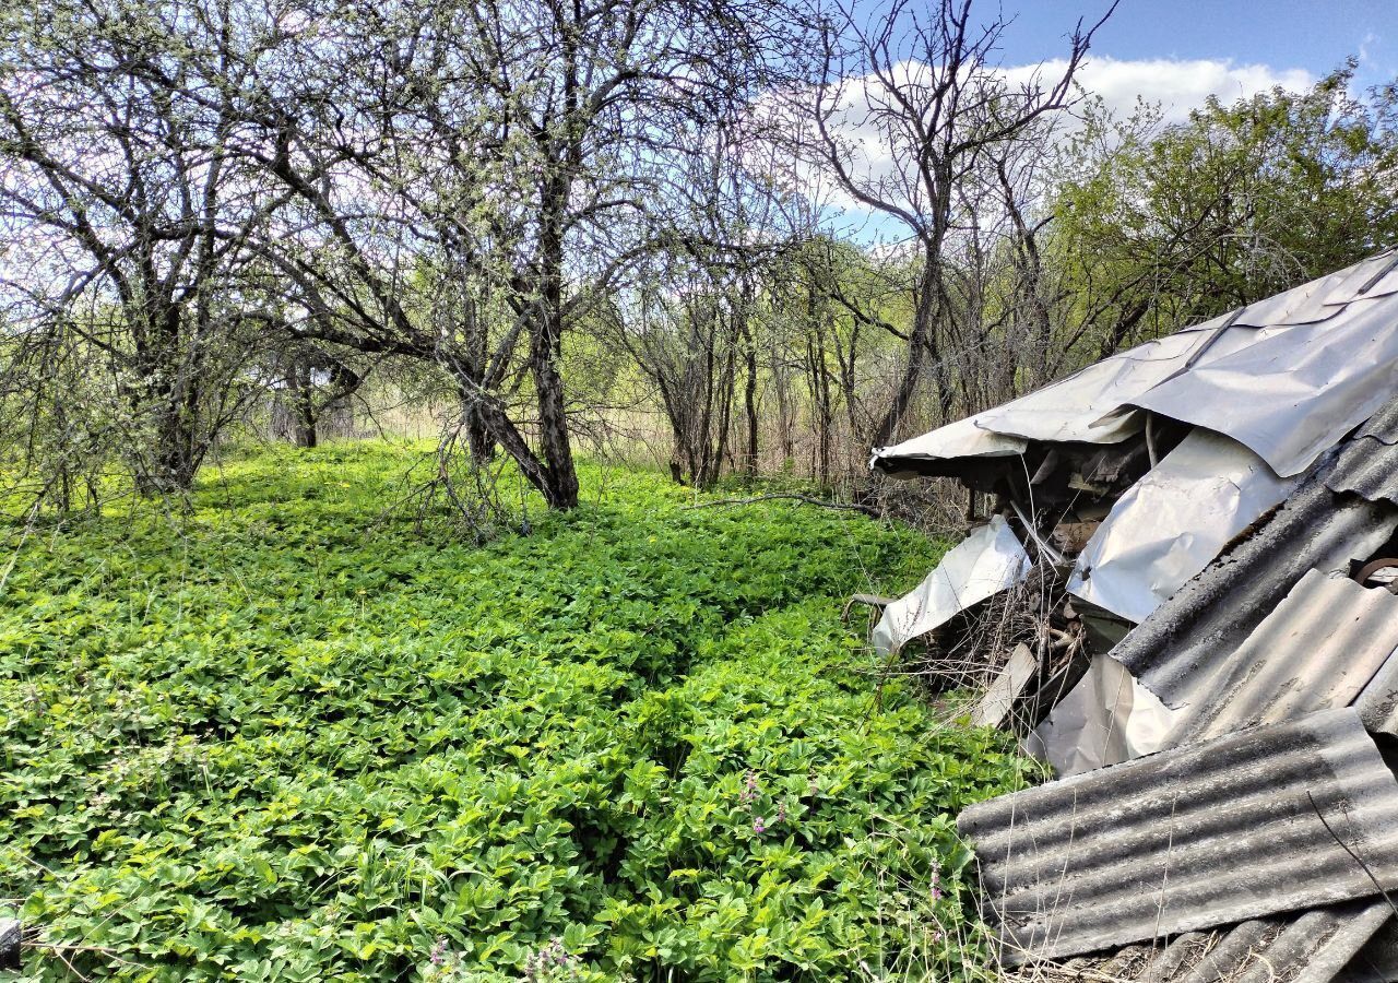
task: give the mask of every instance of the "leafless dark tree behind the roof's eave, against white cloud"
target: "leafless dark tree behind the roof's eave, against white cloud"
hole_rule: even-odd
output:
[[[952,406],[946,254],[963,218],[958,189],[987,169],[994,173],[1037,120],[1072,102],[1072,78],[1106,17],[1089,29],[1078,24],[1061,71],[1016,80],[994,60],[1008,22],[998,13],[974,20],[970,0],[939,0],[930,15],[895,0],[872,24],[863,13],[846,6],[823,31],[811,150],[853,201],[906,228],[916,246],[907,358],[874,432],[886,443],[925,372],[941,415]],[[854,126],[875,134],[889,154],[886,168],[868,165]]]

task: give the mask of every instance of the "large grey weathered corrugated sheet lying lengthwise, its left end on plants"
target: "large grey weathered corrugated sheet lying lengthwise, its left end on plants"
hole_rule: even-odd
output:
[[[1398,780],[1352,709],[967,808],[1002,959],[1057,958],[1398,888]]]

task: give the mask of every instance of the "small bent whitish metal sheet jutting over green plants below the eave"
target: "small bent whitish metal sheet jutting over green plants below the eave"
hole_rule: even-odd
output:
[[[1002,516],[952,547],[917,587],[884,608],[871,642],[882,654],[951,621],[1025,579],[1029,554]]]

